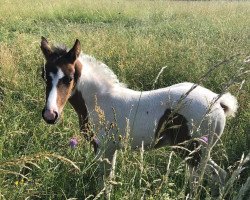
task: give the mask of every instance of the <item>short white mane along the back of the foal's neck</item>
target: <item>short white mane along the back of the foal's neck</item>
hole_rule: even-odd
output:
[[[118,85],[120,87],[126,87],[126,84],[121,83],[115,73],[106,64],[90,55],[83,53],[81,53],[80,59],[83,61],[83,63],[85,62],[90,64],[92,73],[94,73],[98,79],[105,81],[111,86]]]

